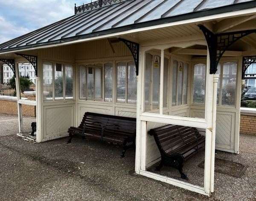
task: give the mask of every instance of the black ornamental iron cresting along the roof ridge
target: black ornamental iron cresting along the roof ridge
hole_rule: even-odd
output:
[[[78,6],[78,7],[76,7],[76,4],[75,4],[75,14],[81,13],[84,11],[93,10],[93,9],[98,9],[98,8],[101,8],[102,6],[112,5],[114,3],[118,3],[121,1],[125,1],[125,0],[98,0],[91,3],[83,4],[82,6]]]

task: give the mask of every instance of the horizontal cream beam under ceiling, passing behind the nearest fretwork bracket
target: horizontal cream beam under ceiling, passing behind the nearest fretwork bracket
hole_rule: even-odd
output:
[[[223,56],[225,57],[240,57],[243,52],[240,51],[226,51]],[[207,55],[206,49],[180,49],[175,52],[179,55]]]

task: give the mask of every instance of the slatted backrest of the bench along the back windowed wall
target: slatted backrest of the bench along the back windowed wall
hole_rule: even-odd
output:
[[[136,135],[136,118],[120,117],[113,115],[103,115],[93,112],[85,112],[79,128],[85,126],[86,132],[93,135],[118,137],[134,137]]]

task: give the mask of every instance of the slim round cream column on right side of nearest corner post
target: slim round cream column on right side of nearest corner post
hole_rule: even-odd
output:
[[[219,75],[213,76],[213,102],[212,102],[212,156],[211,156],[211,192],[214,192],[214,165],[215,165],[215,136],[216,136],[216,113],[217,113],[217,89]]]

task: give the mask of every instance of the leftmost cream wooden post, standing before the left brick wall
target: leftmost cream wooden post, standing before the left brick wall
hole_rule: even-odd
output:
[[[19,133],[23,133],[23,118],[22,118],[22,106],[19,103],[20,100],[20,74],[19,74],[19,65],[15,60],[15,85],[16,85],[16,96],[17,96],[17,111],[18,111],[18,121],[19,121]]]

